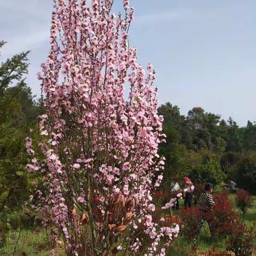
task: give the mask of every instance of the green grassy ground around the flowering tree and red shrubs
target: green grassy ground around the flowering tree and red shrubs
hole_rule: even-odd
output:
[[[230,195],[230,199],[235,205],[235,195]],[[183,202],[181,202],[181,205],[182,203]],[[245,214],[244,221],[247,226],[253,225],[253,222],[256,221],[256,196],[254,196],[254,206]],[[198,241],[200,250],[207,251],[213,244],[216,245],[217,250],[226,249],[226,241],[220,241],[218,239],[210,241],[209,236],[210,230],[205,223]],[[175,247],[170,248],[167,255],[185,256],[188,254],[190,246],[191,244],[184,241],[183,237],[180,236],[177,238],[177,241],[175,241]],[[0,249],[0,255],[20,256],[22,252],[26,252],[28,256],[49,256],[51,255],[51,249],[51,239],[49,234],[43,229],[12,230],[6,246]],[[57,249],[57,252],[58,256],[65,255],[61,249]]]

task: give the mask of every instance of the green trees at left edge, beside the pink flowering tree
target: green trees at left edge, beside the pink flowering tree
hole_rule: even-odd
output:
[[[0,41],[0,50],[4,44]],[[21,207],[35,181],[26,171],[25,139],[42,108],[26,84],[28,54],[0,63],[0,217]]]

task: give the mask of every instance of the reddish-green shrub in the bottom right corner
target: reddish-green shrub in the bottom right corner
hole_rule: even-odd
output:
[[[238,221],[233,227],[233,232],[228,239],[228,250],[236,256],[251,256],[256,250],[256,225],[247,228],[243,222]]]

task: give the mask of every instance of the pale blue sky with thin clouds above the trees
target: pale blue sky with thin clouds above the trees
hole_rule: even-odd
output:
[[[159,101],[186,114],[194,106],[256,121],[255,0],[130,0],[131,43],[139,62],[153,63]],[[121,0],[116,0],[115,10]],[[2,59],[31,50],[28,84],[39,94],[36,73],[49,51],[52,0],[0,1]]]

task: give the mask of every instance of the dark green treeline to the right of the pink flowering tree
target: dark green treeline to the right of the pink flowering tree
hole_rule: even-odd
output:
[[[164,116],[166,158],[163,186],[181,182],[188,175],[196,182],[209,181],[222,189],[229,181],[256,192],[256,124],[239,127],[233,118],[207,113],[195,107],[187,116],[170,102],[158,108]]]

